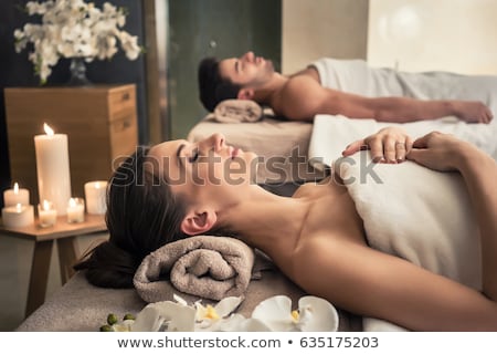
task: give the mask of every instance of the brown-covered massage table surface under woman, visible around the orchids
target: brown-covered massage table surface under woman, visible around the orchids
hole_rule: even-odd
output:
[[[236,311],[250,316],[261,301],[285,294],[294,309],[304,292],[278,271],[265,271],[261,280],[251,281],[246,298]],[[172,300],[172,299],[171,299]],[[135,289],[103,289],[89,284],[84,272],[77,272],[15,329],[18,332],[95,332],[106,323],[109,313],[123,319],[137,314],[147,305]],[[338,310],[339,331],[360,331],[360,317]]]

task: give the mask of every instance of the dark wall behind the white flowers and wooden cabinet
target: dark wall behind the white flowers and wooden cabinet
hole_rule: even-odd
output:
[[[3,88],[39,85],[39,77],[34,76],[33,66],[28,60],[28,50],[21,53],[15,53],[14,50],[14,29],[20,29],[24,23],[35,20],[34,17],[29,17],[22,11],[27,2],[27,0],[0,1],[0,207],[3,206],[2,191],[11,185]],[[102,8],[105,1],[94,0],[92,2],[96,7]],[[109,2],[116,7],[125,7],[128,10],[124,30],[138,35],[139,44],[144,45],[145,30],[141,1],[112,0]],[[53,67],[46,85],[66,84],[70,79],[68,65],[70,61],[62,59]],[[139,142],[140,144],[147,144],[148,125],[145,105],[146,73],[144,56],[140,55],[136,61],[129,61],[125,53],[119,50],[110,61],[94,61],[87,64],[87,76],[95,84],[135,83],[137,85]],[[33,166],[33,168],[35,167]]]

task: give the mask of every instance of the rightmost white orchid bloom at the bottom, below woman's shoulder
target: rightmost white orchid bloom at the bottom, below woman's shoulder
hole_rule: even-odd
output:
[[[254,309],[252,319],[277,332],[332,332],[338,329],[337,310],[328,301],[317,296],[300,298],[296,311],[292,311],[292,300],[288,296],[269,298]]]

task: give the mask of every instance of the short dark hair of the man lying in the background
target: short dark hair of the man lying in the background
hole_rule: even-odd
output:
[[[221,101],[236,98],[242,88],[221,77],[219,61],[215,58],[205,58],[200,62],[198,80],[200,101],[209,112],[213,112]]]

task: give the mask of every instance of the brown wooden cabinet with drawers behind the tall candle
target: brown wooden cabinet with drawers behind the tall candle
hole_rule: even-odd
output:
[[[4,91],[12,181],[38,204],[34,136],[43,123],[67,134],[73,196],[84,184],[107,180],[138,144],[136,86],[9,87]]]

